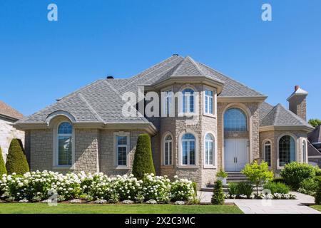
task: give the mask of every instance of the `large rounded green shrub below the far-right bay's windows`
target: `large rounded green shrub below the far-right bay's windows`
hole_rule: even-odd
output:
[[[315,177],[315,167],[306,163],[291,162],[285,165],[280,175],[287,185],[297,190],[303,180]]]

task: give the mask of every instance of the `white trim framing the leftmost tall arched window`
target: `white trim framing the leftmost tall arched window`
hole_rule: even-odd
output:
[[[61,125],[61,123],[70,123],[73,128],[72,134],[66,134],[66,136],[71,136],[71,165],[58,165],[58,155],[59,155],[59,147],[58,147],[58,135],[63,136],[63,134],[58,134],[58,128]],[[54,170],[72,170],[75,165],[75,128],[73,127],[73,124],[69,120],[60,120],[54,128],[54,156],[53,156],[53,167]]]

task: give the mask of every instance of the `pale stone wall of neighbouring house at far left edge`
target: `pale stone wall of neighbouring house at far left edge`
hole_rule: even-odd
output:
[[[0,118],[0,147],[4,162],[6,162],[6,156],[8,155],[9,146],[11,140],[18,138],[24,144],[24,131],[16,130],[12,126],[14,122],[5,118]]]

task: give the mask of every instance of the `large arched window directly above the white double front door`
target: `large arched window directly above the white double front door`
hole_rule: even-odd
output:
[[[230,108],[224,115],[225,131],[247,131],[247,118],[240,108]]]

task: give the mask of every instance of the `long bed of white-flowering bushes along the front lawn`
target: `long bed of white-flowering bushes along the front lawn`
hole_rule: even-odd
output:
[[[155,175],[145,175],[143,180],[137,180],[133,175],[108,177],[103,173],[62,175],[36,171],[23,176],[3,175],[0,179],[0,197],[6,202],[49,202],[49,192],[57,194],[58,202],[97,204],[190,202],[196,196],[193,182],[178,177],[170,182],[166,176]]]

